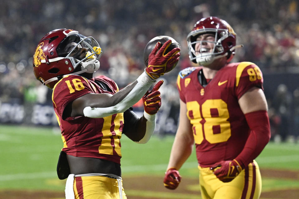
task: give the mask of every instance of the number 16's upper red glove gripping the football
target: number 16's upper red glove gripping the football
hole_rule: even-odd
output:
[[[159,78],[164,73],[171,71],[178,63],[181,55],[180,48],[174,48],[165,54],[170,44],[171,40],[166,41],[163,46],[158,42],[150,53],[149,64],[145,71],[151,78]]]

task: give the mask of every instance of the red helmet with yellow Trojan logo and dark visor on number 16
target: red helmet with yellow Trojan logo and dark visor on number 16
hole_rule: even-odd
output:
[[[36,79],[53,89],[64,75],[97,71],[101,52],[93,37],[85,37],[70,29],[53,30],[37,45],[33,72]]]

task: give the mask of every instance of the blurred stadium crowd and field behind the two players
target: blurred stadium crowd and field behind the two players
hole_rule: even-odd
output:
[[[40,191],[37,198],[59,198],[63,193],[64,181],[55,176],[62,142],[49,100],[51,91],[40,85],[32,72],[36,44],[43,35],[57,28],[93,36],[104,51],[101,70],[97,73],[111,77],[120,88],[134,81],[144,69],[143,49],[154,36],[168,35],[181,44],[182,55],[177,67],[163,76],[162,107],[153,139],[146,145],[131,145],[124,136],[122,166],[123,177],[129,179],[124,186],[130,198],[193,198],[174,195],[161,182],[178,121],[176,76],[181,69],[192,66],[187,56],[186,36],[196,21],[210,15],[228,21],[238,35],[237,43],[244,44],[244,48],[236,50],[234,61],[254,62],[263,72],[272,138],[258,157],[262,175],[264,172],[262,197],[298,198],[297,1],[0,2],[0,198],[14,198],[20,191],[24,198],[35,193],[34,190]],[[140,104],[134,110],[143,111]],[[196,159],[192,155],[182,173],[193,187],[186,185],[183,191],[194,192],[194,198],[199,198]],[[269,170],[273,173],[266,174]],[[58,195],[47,197],[45,191]],[[155,197],[151,191],[160,195]],[[263,195],[270,192],[273,195]]]

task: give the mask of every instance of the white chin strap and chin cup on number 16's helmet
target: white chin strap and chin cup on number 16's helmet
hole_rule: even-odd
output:
[[[84,72],[94,73],[100,68],[100,62],[97,59],[91,59],[91,60],[88,60],[86,62],[81,62],[80,64],[81,64],[81,71],[63,75],[61,78],[65,77],[65,76],[68,76],[68,75],[79,75],[79,74],[82,74]],[[59,79],[61,79],[61,78],[59,78]],[[59,80],[59,79],[58,79],[58,77],[53,77],[53,78],[48,79],[47,81],[45,81],[43,83],[43,85],[49,84],[50,82],[56,81],[56,80]]]

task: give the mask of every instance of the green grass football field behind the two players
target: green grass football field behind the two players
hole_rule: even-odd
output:
[[[153,136],[147,144],[121,138],[122,177],[163,175],[168,164],[173,136]],[[56,175],[56,164],[63,146],[58,128],[0,125],[0,190],[64,191],[64,180]],[[256,159],[261,169],[299,173],[299,145],[268,143]],[[180,169],[184,178],[198,178],[196,156]],[[283,175],[283,173],[282,173]],[[263,190],[299,187],[299,176],[291,179],[263,177]],[[163,185],[162,185],[163,186]],[[128,190],[130,193],[130,190]],[[128,194],[128,193],[127,193]],[[1,197],[0,197],[1,198]]]

